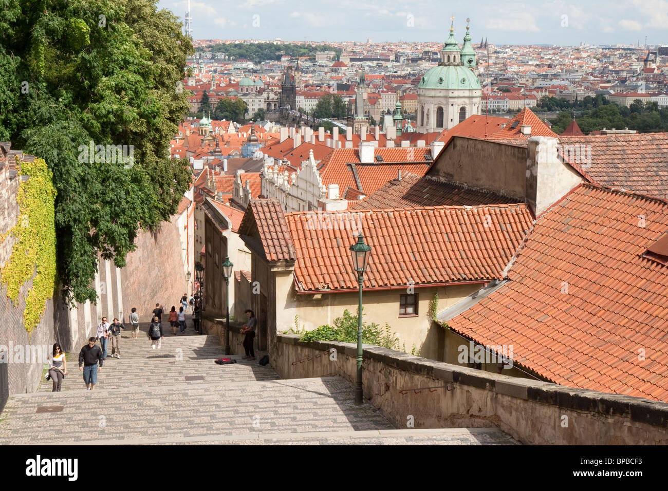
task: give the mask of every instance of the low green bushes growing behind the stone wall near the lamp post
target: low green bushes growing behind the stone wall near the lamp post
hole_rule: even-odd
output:
[[[297,319],[295,318],[295,322]],[[342,341],[343,343],[357,342],[357,315],[352,315],[347,309],[342,317],[334,319],[334,325],[321,325],[313,331],[304,333],[300,341]],[[385,323],[380,327],[376,323],[362,322],[362,343],[382,346],[389,349],[399,349],[399,337],[391,327]]]

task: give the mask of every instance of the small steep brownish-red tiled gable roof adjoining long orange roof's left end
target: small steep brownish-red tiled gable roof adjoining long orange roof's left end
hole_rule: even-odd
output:
[[[294,261],[295,244],[278,200],[257,199],[248,208],[239,224],[239,233],[248,234],[257,226],[260,242],[267,261]]]

